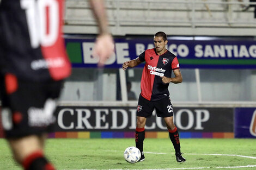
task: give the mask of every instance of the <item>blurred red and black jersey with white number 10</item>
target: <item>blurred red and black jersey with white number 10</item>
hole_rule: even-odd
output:
[[[61,80],[71,72],[62,0],[2,0],[0,70],[20,79]]]

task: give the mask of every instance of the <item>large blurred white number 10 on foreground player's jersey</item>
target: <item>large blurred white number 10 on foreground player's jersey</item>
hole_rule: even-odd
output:
[[[52,46],[59,31],[57,0],[21,0],[21,8],[26,11],[32,48]]]

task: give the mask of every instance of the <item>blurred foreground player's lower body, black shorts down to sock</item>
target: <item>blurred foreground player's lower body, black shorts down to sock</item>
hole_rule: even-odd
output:
[[[20,81],[15,76],[11,80],[11,83],[16,82],[16,88],[9,93],[1,90],[1,98],[2,119],[5,120],[3,128],[14,158],[24,169],[53,170],[54,167],[42,152],[45,141],[43,134],[54,123],[54,99],[58,97],[62,83]],[[5,85],[1,86],[4,91],[8,91],[5,90],[10,85],[8,81],[5,79],[5,83],[1,84]]]

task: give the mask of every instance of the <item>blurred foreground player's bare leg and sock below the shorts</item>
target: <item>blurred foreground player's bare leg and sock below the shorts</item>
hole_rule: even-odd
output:
[[[44,156],[42,135],[29,135],[19,138],[9,138],[14,159],[26,170],[54,170],[54,167]]]

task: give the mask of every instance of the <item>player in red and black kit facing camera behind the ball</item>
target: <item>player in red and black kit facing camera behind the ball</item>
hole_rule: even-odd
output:
[[[167,36],[163,32],[157,32],[154,36],[155,48],[147,49],[138,58],[126,61],[123,70],[128,67],[135,67],[145,61],[141,78],[141,95],[139,95],[137,106],[136,124],[136,147],[141,150],[140,161],[144,161],[143,141],[145,138],[145,123],[152,115],[154,109],[158,117],[163,117],[169,131],[170,140],[175,149],[177,162],[185,162],[180,152],[180,140],[177,128],[173,123],[173,105],[170,103],[168,86],[169,83],[181,83],[177,57],[166,49]],[[172,71],[175,77],[172,78]]]

